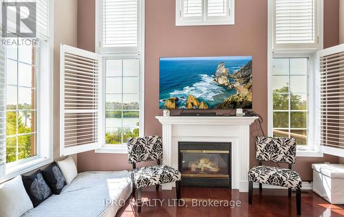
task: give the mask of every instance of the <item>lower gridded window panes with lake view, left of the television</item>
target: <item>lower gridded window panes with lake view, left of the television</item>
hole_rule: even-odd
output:
[[[106,60],[105,143],[126,144],[140,132],[139,59]]]

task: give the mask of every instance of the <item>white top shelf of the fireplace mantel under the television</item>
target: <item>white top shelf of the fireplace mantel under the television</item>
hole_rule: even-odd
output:
[[[156,116],[161,124],[252,124],[258,117],[236,116]]]

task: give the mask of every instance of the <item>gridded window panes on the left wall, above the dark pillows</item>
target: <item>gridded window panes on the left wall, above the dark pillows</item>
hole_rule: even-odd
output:
[[[6,161],[10,163],[37,154],[35,46],[7,46],[6,65]]]

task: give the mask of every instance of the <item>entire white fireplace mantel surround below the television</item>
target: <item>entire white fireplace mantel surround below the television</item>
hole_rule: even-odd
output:
[[[186,117],[157,116],[162,124],[164,165],[178,169],[179,141],[231,142],[232,189],[248,192],[247,173],[250,169],[250,124],[258,117]],[[162,188],[171,190],[174,183]]]

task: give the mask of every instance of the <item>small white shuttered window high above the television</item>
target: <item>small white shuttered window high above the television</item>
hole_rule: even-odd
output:
[[[234,0],[176,0],[175,25],[233,25]]]

